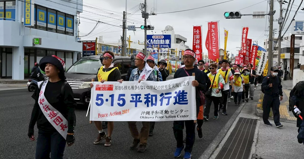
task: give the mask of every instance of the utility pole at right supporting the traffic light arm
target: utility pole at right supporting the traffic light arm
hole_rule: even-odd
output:
[[[274,0],[270,0],[270,10],[269,10],[269,41],[268,41],[268,75],[271,75],[271,67],[272,67],[272,43],[273,43],[273,2]]]

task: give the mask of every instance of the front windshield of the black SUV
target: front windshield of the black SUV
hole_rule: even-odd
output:
[[[67,70],[67,73],[96,75],[100,67],[101,62],[99,59],[81,58]]]

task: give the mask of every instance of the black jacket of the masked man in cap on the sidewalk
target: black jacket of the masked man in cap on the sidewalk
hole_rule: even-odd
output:
[[[269,88],[269,84],[272,84],[271,88]],[[261,87],[262,89],[264,89],[265,95],[270,95],[272,97],[276,97],[278,95],[283,96],[281,78],[279,78],[278,76],[266,76],[263,79]]]

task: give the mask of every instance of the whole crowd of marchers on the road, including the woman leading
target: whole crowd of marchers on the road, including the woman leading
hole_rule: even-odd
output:
[[[240,106],[241,102],[253,100],[254,90],[261,79],[256,75],[252,64],[236,65],[227,60],[218,63],[205,63],[203,60],[195,59],[195,52],[187,49],[183,55],[183,64],[175,74],[174,78],[181,78],[195,73],[192,86],[196,93],[196,121],[174,121],[173,133],[176,139],[176,150],[174,157],[180,157],[182,150],[185,151],[184,159],[191,158],[192,147],[195,141],[195,130],[198,137],[202,138],[202,124],[209,120],[210,107],[213,102],[213,119],[219,118],[219,113],[228,115],[227,103],[234,100],[234,105]],[[106,51],[100,56],[102,66],[98,69],[95,81],[118,81],[123,82],[121,73],[112,63],[114,54]],[[128,81],[166,81],[169,71],[167,63],[160,60],[156,63],[152,56],[146,56],[139,52],[131,56],[131,67],[126,80]],[[39,67],[49,77],[47,81],[40,82],[39,88],[33,94],[35,99],[32,111],[28,137],[34,141],[34,125],[38,127],[38,138],[36,146],[36,158],[63,158],[65,144],[71,146],[75,142],[74,127],[76,117],[74,114],[76,102],[69,84],[66,84],[64,76],[65,64],[62,59],[53,55],[46,56],[39,62]],[[145,79],[142,79],[145,75]],[[190,82],[190,81],[189,81]],[[90,85],[91,88],[93,84]],[[268,113],[269,114],[269,113]],[[104,124],[94,121],[98,131],[94,144],[105,140],[105,146],[111,146],[114,124],[108,121],[105,125],[107,133],[103,131]],[[138,145],[138,152],[144,152],[149,136],[153,136],[155,122],[142,121],[142,128],[138,131],[136,121],[128,121],[130,134],[133,141],[132,149]],[[186,128],[186,137],[183,137],[183,129]]]

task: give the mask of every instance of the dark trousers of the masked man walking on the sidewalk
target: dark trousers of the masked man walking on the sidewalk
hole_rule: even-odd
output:
[[[263,121],[264,123],[269,123],[268,118],[269,118],[269,113],[270,113],[270,108],[272,109],[273,112],[273,120],[275,121],[275,125],[278,126],[280,125],[280,99],[279,96],[270,96],[267,94],[264,94],[264,99],[263,99]]]

